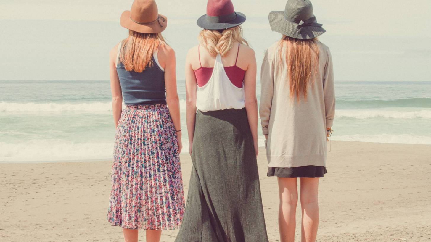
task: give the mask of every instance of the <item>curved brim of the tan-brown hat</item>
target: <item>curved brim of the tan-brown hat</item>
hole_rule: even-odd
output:
[[[138,24],[130,19],[130,11],[126,10],[121,14],[120,25],[124,28],[128,28],[139,33],[158,34],[164,31],[166,29],[166,26],[168,25],[168,19],[166,18],[166,16],[159,14],[159,17],[162,17],[164,20],[160,18],[160,22],[154,21],[148,24]]]

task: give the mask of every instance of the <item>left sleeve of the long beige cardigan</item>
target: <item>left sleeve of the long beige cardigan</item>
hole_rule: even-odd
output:
[[[260,71],[260,105],[259,116],[263,135],[268,135],[269,116],[271,114],[274,66],[272,59],[268,59],[268,51],[265,51],[262,68]]]

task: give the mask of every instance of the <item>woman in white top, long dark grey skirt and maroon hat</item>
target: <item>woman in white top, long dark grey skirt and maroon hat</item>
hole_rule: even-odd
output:
[[[193,161],[176,242],[267,242],[257,172],[256,60],[230,0],[209,0],[186,59]],[[196,112],[197,111],[197,112]]]

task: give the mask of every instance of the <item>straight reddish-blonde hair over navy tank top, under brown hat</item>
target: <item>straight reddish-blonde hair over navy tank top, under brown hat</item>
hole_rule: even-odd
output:
[[[120,62],[124,64],[126,71],[142,72],[147,65],[154,65],[153,53],[160,43],[166,44],[162,34],[144,34],[129,30],[129,36],[122,41]]]

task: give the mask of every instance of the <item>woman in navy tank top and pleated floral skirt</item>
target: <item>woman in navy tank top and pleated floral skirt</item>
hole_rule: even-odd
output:
[[[153,0],[135,0],[120,23],[129,36],[110,53],[117,131],[108,221],[123,228],[126,242],[137,242],[138,229],[158,242],[184,214],[175,53],[160,34],[167,19]]]

